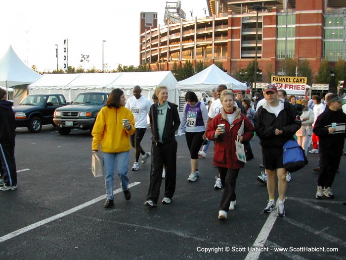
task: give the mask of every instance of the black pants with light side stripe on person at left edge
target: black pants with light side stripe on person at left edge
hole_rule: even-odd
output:
[[[0,144],[1,176],[6,186],[17,185],[17,168],[14,158],[15,143]]]

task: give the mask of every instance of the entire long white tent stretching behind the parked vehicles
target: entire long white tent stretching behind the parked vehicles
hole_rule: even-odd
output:
[[[132,89],[136,85],[142,88],[142,95],[151,100],[156,87],[167,86],[170,92],[169,100],[174,102],[175,83],[176,79],[171,71],[44,74],[30,84],[28,89],[29,94],[63,94],[70,102],[81,92],[108,92],[115,88],[122,89],[128,99],[133,96]]]

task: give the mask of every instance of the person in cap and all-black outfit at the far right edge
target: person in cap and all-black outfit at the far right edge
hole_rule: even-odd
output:
[[[332,185],[343,155],[346,138],[346,114],[342,111],[343,99],[336,94],[326,98],[329,109],[315,121],[313,132],[319,137],[320,168],[317,180],[316,199],[334,198]]]

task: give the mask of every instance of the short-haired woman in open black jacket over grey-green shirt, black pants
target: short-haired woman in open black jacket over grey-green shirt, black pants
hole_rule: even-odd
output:
[[[166,166],[165,195],[163,204],[170,204],[175,192],[176,151],[175,131],[180,125],[177,105],[168,100],[168,89],[159,86],[155,90],[159,100],[150,107],[149,119],[152,133],[151,172],[147,200],[144,205],[156,207],[160,196],[162,171]]]

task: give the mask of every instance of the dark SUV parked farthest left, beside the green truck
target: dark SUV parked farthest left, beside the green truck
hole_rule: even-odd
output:
[[[38,133],[42,125],[52,124],[56,108],[67,105],[61,94],[31,94],[13,106],[15,126],[28,127],[32,133]]]

